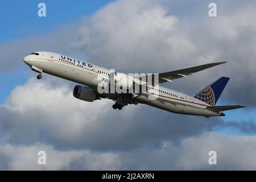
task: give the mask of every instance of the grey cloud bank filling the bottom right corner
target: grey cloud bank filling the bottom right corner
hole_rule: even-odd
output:
[[[217,152],[217,165],[209,165],[209,151]],[[164,142],[162,148],[143,148],[123,156],[131,169],[248,170],[256,168],[254,151],[255,136],[204,133],[188,137],[178,145]]]

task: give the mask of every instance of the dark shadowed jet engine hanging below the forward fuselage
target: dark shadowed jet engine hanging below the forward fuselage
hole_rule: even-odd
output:
[[[87,102],[93,102],[97,100],[97,94],[94,90],[89,89],[86,86],[76,85],[73,89],[73,96]]]

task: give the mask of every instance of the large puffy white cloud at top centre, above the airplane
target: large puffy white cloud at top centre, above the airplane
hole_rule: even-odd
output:
[[[110,3],[81,24],[75,45],[91,60],[123,71],[163,70],[162,65],[171,67],[170,60],[189,59],[195,52],[179,19],[167,13],[151,1]]]

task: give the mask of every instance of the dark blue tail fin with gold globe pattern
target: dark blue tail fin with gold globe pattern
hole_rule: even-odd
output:
[[[218,80],[214,81],[212,84],[201,90],[199,93],[197,93],[194,97],[211,106],[215,106],[229,79],[230,78],[228,77],[219,78]]]

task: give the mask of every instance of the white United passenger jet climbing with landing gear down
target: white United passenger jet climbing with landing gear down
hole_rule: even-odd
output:
[[[38,79],[42,78],[42,73],[47,73],[76,82],[81,85],[76,85],[73,89],[73,96],[75,98],[88,102],[108,98],[115,102],[112,106],[113,109],[121,110],[122,107],[130,104],[146,104],[172,113],[199,115],[209,118],[213,116],[225,116],[222,111],[246,107],[242,105],[216,106],[218,98],[220,98],[222,91],[230,79],[228,77],[219,78],[196,93],[195,96],[188,96],[187,94],[159,85],[164,82],[172,82],[172,80],[178,78],[187,78],[192,73],[203,71],[204,69],[226,62],[209,63],[177,71],[158,73],[158,84],[154,84],[154,82],[147,81],[147,78],[149,78],[148,75],[133,77],[59,53],[45,51],[32,52],[30,55],[24,57],[23,61],[32,71],[38,73]],[[156,74],[153,75],[157,77]],[[125,81],[124,78],[129,80],[129,82]],[[146,85],[146,90],[139,89],[136,93],[117,93],[116,91],[99,92],[98,88],[102,81],[105,82],[105,85],[106,83],[107,85],[119,85],[124,90],[134,89],[134,85]],[[102,86],[103,88],[104,85]]]

